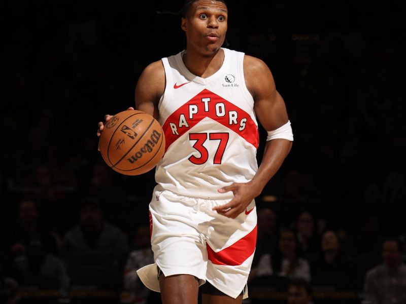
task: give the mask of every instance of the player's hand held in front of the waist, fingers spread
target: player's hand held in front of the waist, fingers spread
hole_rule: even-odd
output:
[[[229,186],[218,189],[220,193],[226,193],[232,191],[234,198],[225,205],[217,206],[213,208],[213,211],[217,211],[224,216],[230,218],[236,218],[240,213],[251,204],[252,200],[259,195],[256,188],[250,183],[232,183]]]

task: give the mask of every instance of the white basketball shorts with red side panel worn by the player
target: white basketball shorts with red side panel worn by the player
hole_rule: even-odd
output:
[[[235,219],[212,210],[230,200],[154,191],[149,211],[155,264],[137,271],[144,285],[159,292],[158,266],[165,276],[192,275],[200,285],[208,281],[238,297],[246,288],[254,257],[257,215],[254,200]]]

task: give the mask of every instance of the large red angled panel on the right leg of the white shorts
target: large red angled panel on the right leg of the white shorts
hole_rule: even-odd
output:
[[[257,241],[257,226],[244,238],[236,241],[231,246],[215,252],[207,244],[209,260],[216,265],[236,266],[241,265],[255,251]]]

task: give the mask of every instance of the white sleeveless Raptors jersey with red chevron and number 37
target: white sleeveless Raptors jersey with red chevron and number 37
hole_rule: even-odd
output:
[[[208,78],[184,65],[183,52],[163,58],[166,87],[158,104],[166,147],[156,190],[206,199],[231,198],[217,190],[248,182],[258,165],[258,124],[244,80],[244,53],[223,48],[221,68]]]

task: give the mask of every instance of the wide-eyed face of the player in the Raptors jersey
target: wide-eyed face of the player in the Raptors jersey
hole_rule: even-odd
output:
[[[227,7],[219,1],[198,0],[182,18],[187,47],[211,55],[224,43],[227,31]]]

